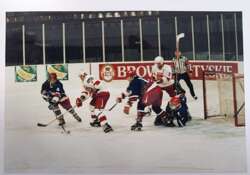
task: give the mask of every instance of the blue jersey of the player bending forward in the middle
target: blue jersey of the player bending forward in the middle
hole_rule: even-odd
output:
[[[129,83],[127,92],[130,94],[130,96],[138,96],[139,98],[141,98],[144,94],[145,85],[147,83],[147,80],[135,76],[133,80]]]

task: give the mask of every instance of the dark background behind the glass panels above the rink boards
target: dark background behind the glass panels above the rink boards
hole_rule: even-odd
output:
[[[172,59],[176,30],[185,33],[180,50],[190,60],[243,60],[241,12],[7,12],[6,65],[24,64],[23,55],[25,64],[63,63],[63,23],[66,63],[153,60],[159,50]]]

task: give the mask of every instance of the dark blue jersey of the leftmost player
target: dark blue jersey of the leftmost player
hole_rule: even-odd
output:
[[[55,83],[50,83],[49,80],[46,80],[42,85],[41,93],[43,93],[43,91],[46,91],[48,95],[52,92],[58,92],[61,94],[61,97],[66,96],[63,85],[59,80]]]

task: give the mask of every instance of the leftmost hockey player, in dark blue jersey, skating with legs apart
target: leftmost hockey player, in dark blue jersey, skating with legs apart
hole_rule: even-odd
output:
[[[42,84],[41,94],[43,99],[49,103],[49,109],[52,110],[56,116],[61,115],[60,105],[64,109],[69,110],[78,122],[82,121],[72,108],[69,97],[66,96],[63,84],[57,79],[56,73],[49,74],[48,80]],[[60,126],[65,124],[63,116],[60,116],[58,121]]]

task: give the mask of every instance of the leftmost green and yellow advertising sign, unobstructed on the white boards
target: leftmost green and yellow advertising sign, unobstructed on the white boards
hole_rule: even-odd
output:
[[[37,66],[15,66],[16,82],[32,82],[37,81]]]

